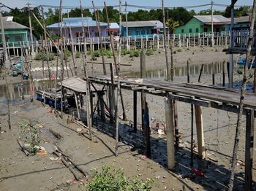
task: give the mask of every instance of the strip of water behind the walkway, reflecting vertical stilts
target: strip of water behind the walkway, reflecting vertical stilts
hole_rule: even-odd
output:
[[[202,64],[193,64],[190,66],[190,75],[199,75],[200,67]],[[215,74],[222,72],[222,63],[214,63],[214,64],[204,64],[203,72],[204,74]],[[140,71],[138,72],[128,72],[126,74],[129,77],[140,77]],[[187,76],[187,66],[175,67],[174,68],[174,76],[175,77],[182,77]],[[147,79],[165,79],[167,77],[167,70],[166,69],[157,69],[157,70],[148,70],[146,71],[146,78]]]

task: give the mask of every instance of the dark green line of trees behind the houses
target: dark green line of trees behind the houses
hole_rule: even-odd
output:
[[[99,13],[99,21],[107,23],[107,18],[105,15],[105,9],[97,10]],[[39,7],[32,10],[34,15],[42,22],[42,12]],[[235,17],[245,16],[247,13],[251,12],[251,7],[244,6],[235,9]],[[45,13],[45,23],[47,26],[59,22],[59,9],[49,8]],[[13,16],[14,21],[20,23],[24,26],[29,27],[29,10],[24,9],[11,9],[10,12],[5,12],[6,16]],[[92,17],[95,20],[95,14],[90,9],[83,9],[84,17]],[[166,24],[170,28],[170,32],[176,26],[183,25],[193,17],[194,15],[211,15],[211,9],[201,10],[196,13],[195,10],[187,10],[183,7],[178,7],[174,9],[165,9]],[[230,7],[226,7],[224,11],[214,11],[214,15],[223,15],[225,17],[231,16]],[[63,17],[67,17],[67,12],[63,12]],[[79,8],[69,10],[69,17],[80,17],[81,12]],[[113,7],[108,7],[108,17],[111,23],[119,23],[119,12],[118,9]],[[138,20],[160,20],[162,22],[162,9],[138,9],[135,12],[127,12],[128,21],[138,21]],[[125,13],[122,13],[122,20],[125,20]],[[31,23],[34,30],[34,34],[39,38],[43,34],[42,28],[37,23],[37,20],[31,15]]]

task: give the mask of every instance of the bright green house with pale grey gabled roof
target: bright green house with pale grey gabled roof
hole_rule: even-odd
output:
[[[213,15],[214,32],[229,31],[230,19]],[[175,34],[197,34],[211,32],[211,15],[195,15],[186,24],[176,27]]]

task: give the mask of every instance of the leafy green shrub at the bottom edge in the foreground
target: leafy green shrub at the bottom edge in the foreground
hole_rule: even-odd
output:
[[[102,165],[102,172],[94,170],[94,179],[89,182],[87,190],[151,190],[152,179],[146,181],[138,178],[127,179],[120,169],[111,170],[110,166]]]

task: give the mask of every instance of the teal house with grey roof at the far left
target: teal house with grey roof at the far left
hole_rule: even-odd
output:
[[[13,17],[2,17],[4,24],[4,35],[7,46],[20,46],[20,42],[28,42],[29,28],[13,21]],[[0,26],[1,29],[1,26]],[[1,31],[0,31],[1,34]],[[2,46],[2,38],[0,38]]]

